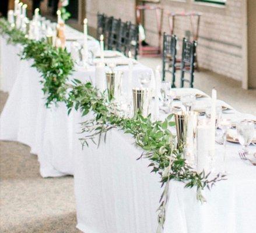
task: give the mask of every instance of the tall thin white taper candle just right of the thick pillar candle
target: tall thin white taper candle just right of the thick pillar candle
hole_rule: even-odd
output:
[[[216,130],[216,99],[217,92],[215,89],[212,89],[212,107],[211,107],[211,131],[210,131],[210,150],[212,156],[215,154],[215,130]]]

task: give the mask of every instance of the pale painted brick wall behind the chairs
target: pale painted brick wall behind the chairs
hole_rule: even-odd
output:
[[[242,12],[243,0],[227,0],[226,6],[197,3],[194,0],[162,0],[165,12],[201,12],[201,24],[198,39],[199,66],[216,73],[242,79]],[[134,0],[87,0],[86,13],[90,26],[96,27],[96,14],[120,17],[135,22]],[[174,33],[182,38],[190,30],[189,19],[176,21]],[[157,44],[156,18],[152,12],[145,13],[147,41]],[[167,16],[163,17],[163,31],[169,33]]]

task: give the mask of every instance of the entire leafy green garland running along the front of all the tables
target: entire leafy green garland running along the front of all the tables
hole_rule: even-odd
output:
[[[1,34],[8,34],[11,43],[24,46],[22,59],[33,59],[32,66],[41,73],[40,82],[43,84],[47,107],[51,103],[64,101],[68,107],[68,114],[73,108],[80,111],[83,116],[90,111],[94,112],[93,119],[81,123],[82,133],[86,132],[86,136],[80,139],[83,146],[88,145],[88,140],[94,142],[96,136],[100,136],[99,139],[101,136],[106,138],[108,130],[113,128],[122,129],[134,137],[136,146],[144,151],[139,158],[145,157],[150,160],[149,167],[152,167],[152,172],[158,172],[162,176],[160,182],[162,186],[165,185],[158,209],[157,232],[162,231],[164,224],[169,181],[183,182],[185,188],[196,187],[197,199],[205,202],[201,191],[205,188],[211,189],[216,182],[225,179],[225,175],[221,174],[210,179],[210,173],[198,173],[186,163],[182,149],[176,148],[175,136],[170,132],[170,127],[175,125],[171,121],[173,115],[163,122],[152,122],[150,117],[143,118],[140,114],[133,118],[121,117],[117,107],[107,100],[104,93],[99,93],[92,83],[83,84],[73,79],[72,85],[66,85],[73,70],[71,55],[66,50],[52,47],[44,40],[29,40],[22,32],[10,27],[6,20],[0,21],[0,27]]]

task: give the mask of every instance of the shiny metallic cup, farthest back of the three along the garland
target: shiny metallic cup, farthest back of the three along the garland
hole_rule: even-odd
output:
[[[119,101],[121,98],[122,89],[122,75],[121,71],[108,71],[106,72],[107,78],[107,93],[109,101]]]

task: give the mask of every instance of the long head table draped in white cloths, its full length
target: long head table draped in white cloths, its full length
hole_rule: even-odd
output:
[[[82,35],[68,27],[70,37]],[[75,36],[74,36],[75,35]],[[90,46],[99,46],[90,38]],[[1,37],[1,90],[9,98],[1,114],[1,140],[27,144],[37,154],[43,177],[73,175],[75,181],[76,210],[79,230],[86,233],[149,233],[156,232],[160,188],[160,175],[150,173],[149,160],[136,160],[142,150],[134,146],[131,135],[113,129],[106,143],[99,148],[93,143],[82,149],[79,142],[80,122],[92,117],[81,117],[73,110],[67,115],[65,104],[45,108],[41,91],[40,73],[31,68],[31,61],[20,61],[21,48],[6,43]],[[125,59],[124,57],[122,59]],[[127,86],[128,66],[118,66],[124,72]],[[152,72],[137,63],[132,73],[132,85],[139,85],[138,76]],[[95,67],[76,67],[72,77],[95,82]],[[183,93],[204,94],[197,89],[176,89]],[[207,107],[210,99],[198,99],[196,105]],[[180,101],[174,103],[181,105]],[[218,100],[218,105],[229,108]],[[160,119],[166,118],[160,114]],[[223,117],[237,121],[256,119],[232,108]],[[256,167],[240,160],[239,144],[227,143],[227,180],[204,191],[206,203],[196,199],[196,190],[184,189],[184,183],[171,181],[167,203],[164,233],[253,233],[256,229]],[[256,151],[250,146],[250,150]],[[216,144],[216,164],[223,146]]]

